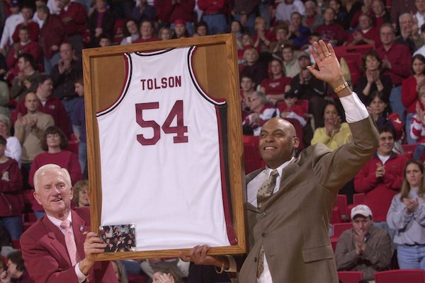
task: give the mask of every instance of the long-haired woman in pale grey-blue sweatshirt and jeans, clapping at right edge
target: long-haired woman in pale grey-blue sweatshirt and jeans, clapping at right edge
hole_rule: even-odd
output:
[[[425,270],[425,174],[418,159],[407,161],[402,190],[392,199],[387,224],[395,229],[400,269]]]

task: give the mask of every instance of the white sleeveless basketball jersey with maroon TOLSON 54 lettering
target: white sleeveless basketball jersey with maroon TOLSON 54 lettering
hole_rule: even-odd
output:
[[[123,91],[97,113],[101,226],[135,224],[137,250],[236,243],[222,129],[226,102],[197,83],[195,50],[125,54]]]

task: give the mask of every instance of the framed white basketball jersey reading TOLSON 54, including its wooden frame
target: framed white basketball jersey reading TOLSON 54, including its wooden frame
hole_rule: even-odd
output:
[[[91,227],[135,231],[135,252],[97,259],[176,257],[205,243],[212,255],[245,253],[234,37],[94,48],[83,59]]]

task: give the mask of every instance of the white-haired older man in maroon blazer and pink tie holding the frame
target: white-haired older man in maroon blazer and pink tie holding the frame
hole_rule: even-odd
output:
[[[45,209],[21,236],[23,259],[35,282],[117,283],[110,262],[95,262],[106,244],[90,232],[89,209],[71,209],[72,185],[66,169],[42,166],[34,175],[34,197]]]

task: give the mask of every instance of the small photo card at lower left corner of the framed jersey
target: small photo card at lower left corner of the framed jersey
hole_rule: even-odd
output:
[[[108,244],[105,253],[135,252],[135,224],[100,226],[99,237]]]

